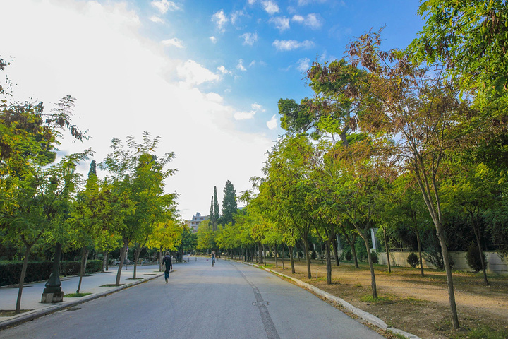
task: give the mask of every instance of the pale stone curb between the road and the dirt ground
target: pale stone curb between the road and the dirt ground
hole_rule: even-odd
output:
[[[237,261],[237,262],[239,262],[239,261]],[[303,283],[303,281],[301,281],[301,280],[298,280],[298,279],[293,278],[293,277],[289,277],[288,275],[279,273],[279,272],[277,272],[275,270],[270,270],[270,268],[265,268],[263,266],[256,265],[255,263],[244,263],[244,264],[249,265],[249,266],[254,266],[254,267],[257,267],[257,268],[262,268],[263,270],[266,270],[267,272],[273,273],[274,275],[279,275],[281,277],[284,277],[286,279],[294,281],[294,283],[296,283],[296,285],[298,285],[300,287],[303,287],[303,288],[305,288],[307,290],[310,290],[313,293],[315,293],[315,295],[318,295],[320,297],[328,299],[329,301],[334,302],[334,304],[341,305],[342,307],[344,307],[344,309],[347,309],[352,314],[358,316],[358,318],[363,319],[363,320],[367,321],[368,323],[370,323],[371,325],[374,325],[374,326],[377,326],[378,328],[381,328],[382,330],[390,331],[392,333],[396,333],[396,334],[399,334],[399,335],[403,335],[404,337],[406,337],[408,339],[421,339],[417,335],[414,335],[414,334],[411,334],[411,333],[407,333],[406,331],[399,330],[398,328],[390,327],[390,326],[387,325],[387,323],[385,323],[385,321],[382,321],[381,319],[377,318],[377,316],[374,316],[373,314],[370,314],[370,313],[365,312],[365,311],[363,311],[361,309],[358,309],[358,307],[354,307],[353,305],[349,304],[349,302],[346,302],[346,300],[341,299],[339,297],[335,297],[334,295],[330,295],[328,292],[320,290],[319,288],[317,288],[317,287],[315,287],[313,285],[310,285],[308,283]]]

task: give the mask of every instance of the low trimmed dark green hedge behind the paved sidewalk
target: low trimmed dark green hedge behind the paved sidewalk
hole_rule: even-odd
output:
[[[51,274],[53,261],[32,261],[28,263],[25,275],[25,283],[47,280]],[[0,263],[0,286],[17,285],[21,276],[22,262],[1,262]],[[80,273],[80,261],[61,261],[61,275],[78,275]],[[102,260],[89,260],[86,273],[100,272]]]

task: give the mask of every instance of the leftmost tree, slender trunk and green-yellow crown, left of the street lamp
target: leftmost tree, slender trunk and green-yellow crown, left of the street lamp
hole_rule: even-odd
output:
[[[0,71],[7,63],[0,59]],[[77,140],[84,134],[71,124],[75,99],[63,97],[50,112],[42,102],[10,102],[0,88],[0,228],[2,241],[25,247],[16,313],[20,312],[28,257],[44,240],[60,242],[66,235],[64,221],[79,175],[71,167],[90,153],[63,157],[56,165],[62,131]]]

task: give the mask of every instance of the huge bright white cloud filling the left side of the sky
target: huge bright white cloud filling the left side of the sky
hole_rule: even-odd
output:
[[[66,152],[92,147],[91,160],[101,162],[113,137],[132,135],[140,141],[143,131],[162,136],[159,154],[174,151],[169,167],[179,169],[167,179],[166,191],[181,194],[181,215],[191,218],[197,211],[207,212],[214,185],[219,200],[219,186],[228,179],[236,191],[249,189],[249,178],[261,175],[272,137],[265,131],[238,131],[238,109],[224,105],[219,94],[191,85],[217,81],[219,75],[196,61],[174,59],[159,40],[143,36],[139,13],[131,8],[126,1],[2,3],[0,31],[9,34],[2,35],[1,49],[14,58],[6,72],[18,83],[14,90],[19,100],[33,97],[50,109],[64,95],[77,98],[73,120],[92,138],[84,143],[65,138],[61,149]],[[205,76],[191,76],[200,73],[195,70]],[[203,171],[196,165],[213,163],[217,149],[238,156],[225,159],[221,168]],[[89,165],[83,163],[77,171],[86,175]]]

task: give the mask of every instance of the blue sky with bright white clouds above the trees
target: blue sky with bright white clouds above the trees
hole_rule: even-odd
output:
[[[76,97],[75,123],[100,162],[111,138],[161,136],[179,169],[167,191],[183,218],[207,214],[213,186],[239,193],[260,175],[279,128],[277,101],[312,93],[313,61],[343,57],[356,36],[386,25],[385,48],[404,48],[423,20],[418,1],[6,0],[0,56],[19,100],[48,108]],[[87,172],[89,164],[80,170]]]

